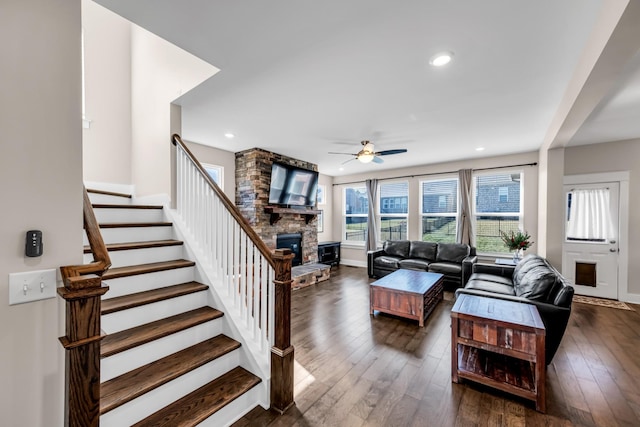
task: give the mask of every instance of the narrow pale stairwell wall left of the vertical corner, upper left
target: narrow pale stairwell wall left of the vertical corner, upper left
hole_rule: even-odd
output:
[[[82,0],[85,181],[131,184],[131,23]]]

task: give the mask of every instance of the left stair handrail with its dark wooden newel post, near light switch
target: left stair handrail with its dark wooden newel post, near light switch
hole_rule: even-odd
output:
[[[100,417],[100,297],[109,290],[102,274],[111,266],[87,190],[84,189],[84,228],[93,262],[60,267],[64,286],[58,294],[66,301],[65,425],[99,425]]]

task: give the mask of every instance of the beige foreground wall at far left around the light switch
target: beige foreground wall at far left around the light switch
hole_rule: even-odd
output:
[[[64,306],[9,306],[8,275],[82,261],[80,0],[3,0],[0,9],[0,424],[55,427]],[[44,255],[26,258],[34,228]]]

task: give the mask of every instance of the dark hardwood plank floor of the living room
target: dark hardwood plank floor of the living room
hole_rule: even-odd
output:
[[[532,402],[451,382],[453,295],[417,321],[369,315],[364,268],[293,291],[295,402],[258,407],[240,426],[638,426],[640,306],[574,303],[547,367],[547,414]]]

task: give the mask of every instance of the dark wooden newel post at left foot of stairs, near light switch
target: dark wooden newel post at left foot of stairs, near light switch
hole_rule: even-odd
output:
[[[65,425],[100,425],[100,297],[108,286],[91,274],[65,277],[58,294],[66,301]]]

